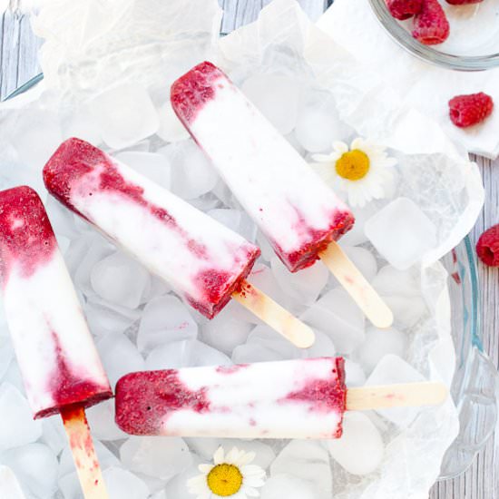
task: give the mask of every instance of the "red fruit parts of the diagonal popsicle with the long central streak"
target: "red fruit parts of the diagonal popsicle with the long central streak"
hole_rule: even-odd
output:
[[[93,171],[99,171],[99,175],[90,175]],[[116,168],[113,158],[88,142],[80,139],[63,142],[44,167],[44,182],[47,190],[56,199],[83,218],[84,215],[74,207],[72,201],[73,190],[81,195],[82,186],[86,190],[84,195],[93,196],[96,193],[109,192],[137,203],[145,210],[149,210],[156,219],[161,220],[169,230],[175,230],[184,240],[185,248],[196,257],[207,258],[204,245],[192,240],[188,231],[177,223],[168,210],[147,201],[143,196],[143,188],[124,179]],[[196,279],[205,298],[204,301],[186,297],[193,308],[208,318],[213,318],[225,307],[231,294],[240,287],[242,279],[249,274],[260,254],[259,249],[249,243],[232,251],[234,254],[240,254],[240,262],[243,263],[240,272],[207,269]]]

